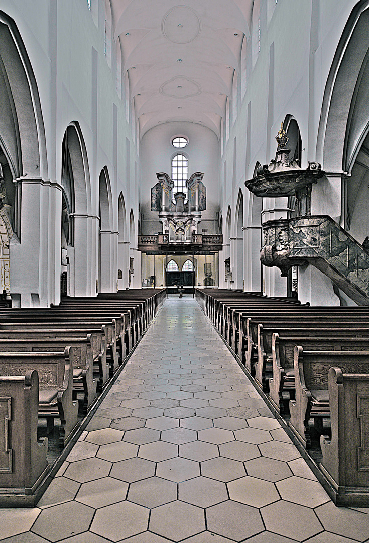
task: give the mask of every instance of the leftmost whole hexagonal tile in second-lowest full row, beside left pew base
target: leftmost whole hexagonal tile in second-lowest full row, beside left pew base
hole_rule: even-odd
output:
[[[125,500],[127,490],[127,483],[113,477],[105,477],[99,479],[99,484],[94,481],[83,483],[75,499],[86,506],[98,509]]]

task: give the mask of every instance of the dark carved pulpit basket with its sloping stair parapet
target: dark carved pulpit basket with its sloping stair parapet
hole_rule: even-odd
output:
[[[369,252],[327,215],[270,220],[263,225],[260,260],[286,276],[310,263],[359,305],[369,305]]]

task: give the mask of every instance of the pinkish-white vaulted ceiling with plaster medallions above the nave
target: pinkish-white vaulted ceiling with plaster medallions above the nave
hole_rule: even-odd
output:
[[[140,137],[157,124],[202,123],[220,135],[249,39],[253,0],[111,0],[114,41]]]

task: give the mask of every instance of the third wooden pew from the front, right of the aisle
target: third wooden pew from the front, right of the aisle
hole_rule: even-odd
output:
[[[349,330],[345,331],[349,332]],[[300,345],[304,351],[369,351],[368,337],[344,337],[341,333],[338,337],[280,337],[279,333],[273,333],[272,358],[270,372],[266,370],[266,379],[269,382],[269,400],[276,411],[286,413],[283,402],[283,392],[295,399],[295,372],[294,349]],[[288,413],[288,407],[287,407]]]

